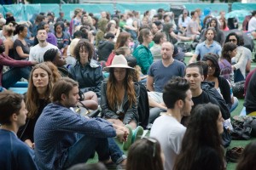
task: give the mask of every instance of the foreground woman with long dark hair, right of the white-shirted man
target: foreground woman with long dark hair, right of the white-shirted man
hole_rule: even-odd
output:
[[[223,122],[218,105],[196,105],[173,169],[224,170],[224,149],[220,136]]]

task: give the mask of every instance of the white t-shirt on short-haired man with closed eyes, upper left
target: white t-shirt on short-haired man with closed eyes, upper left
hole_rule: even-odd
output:
[[[47,45],[44,48],[41,48],[38,45],[35,45],[34,47],[32,47],[30,49],[29,52],[29,61],[32,60],[37,60],[39,63],[43,63],[44,62],[44,53],[50,49],[50,48],[55,48],[58,49],[55,45],[50,44],[49,42],[47,42]]]

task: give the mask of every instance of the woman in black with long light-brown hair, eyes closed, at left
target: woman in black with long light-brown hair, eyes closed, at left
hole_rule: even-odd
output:
[[[56,77],[55,77],[56,78]],[[50,103],[49,94],[53,86],[53,73],[48,65],[40,63],[32,69],[26,93],[28,111],[26,125],[20,127],[18,136],[34,149],[34,127],[44,107]]]

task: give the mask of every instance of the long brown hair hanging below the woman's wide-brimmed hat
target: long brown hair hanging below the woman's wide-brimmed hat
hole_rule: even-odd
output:
[[[116,79],[113,75],[114,68],[110,68],[109,70],[109,77],[107,82],[107,99],[108,99],[108,105],[109,107],[114,110],[116,106],[116,102],[121,103],[122,99],[120,99],[118,96],[119,92],[116,86]],[[133,76],[131,74],[131,69],[126,69],[126,76],[124,80],[124,86],[125,90],[127,92],[128,101],[130,104],[130,107],[132,104],[136,104],[136,92],[133,85]]]

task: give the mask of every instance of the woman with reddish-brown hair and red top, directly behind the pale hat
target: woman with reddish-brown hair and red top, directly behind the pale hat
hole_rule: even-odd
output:
[[[131,42],[131,34],[130,33],[128,33],[128,32],[119,33],[119,37],[117,38],[117,40],[115,42],[113,52],[111,54],[109,54],[108,60],[105,65],[106,66],[111,65],[113,57],[115,55],[114,51],[116,51],[118,48],[129,47],[130,42]]]

